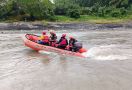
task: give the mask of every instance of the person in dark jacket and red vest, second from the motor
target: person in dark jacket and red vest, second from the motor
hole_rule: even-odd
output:
[[[58,48],[66,49],[66,46],[68,45],[68,40],[66,39],[66,34],[62,34],[60,40],[58,41]]]

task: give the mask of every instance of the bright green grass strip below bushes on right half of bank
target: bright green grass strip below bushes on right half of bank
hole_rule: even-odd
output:
[[[80,18],[74,19],[67,16],[55,16],[57,22],[65,22],[65,23],[95,23],[95,24],[112,24],[112,23],[124,23],[132,20],[132,15],[122,16],[122,17],[98,17],[98,16],[89,16],[89,15],[81,15]]]

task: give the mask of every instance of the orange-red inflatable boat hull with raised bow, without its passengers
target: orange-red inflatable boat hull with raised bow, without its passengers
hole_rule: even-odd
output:
[[[59,49],[56,47],[41,45],[41,44],[36,43],[36,41],[39,40],[39,36],[33,35],[33,34],[26,34],[25,37],[23,38],[23,40],[27,47],[30,47],[31,49],[36,50],[36,51],[44,50],[44,51],[56,52],[56,53],[60,53],[60,54],[79,56],[79,57],[85,57],[85,56],[83,56],[83,53],[87,51],[85,49],[82,49],[81,53],[80,52],[72,52],[72,51],[68,51],[68,50]]]

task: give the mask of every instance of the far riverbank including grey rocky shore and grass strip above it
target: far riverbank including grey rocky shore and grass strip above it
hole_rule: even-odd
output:
[[[0,30],[45,30],[45,29],[115,29],[115,28],[132,28],[132,15],[126,17],[97,17],[81,15],[79,19],[69,18],[66,16],[55,16],[56,21],[1,21]]]

